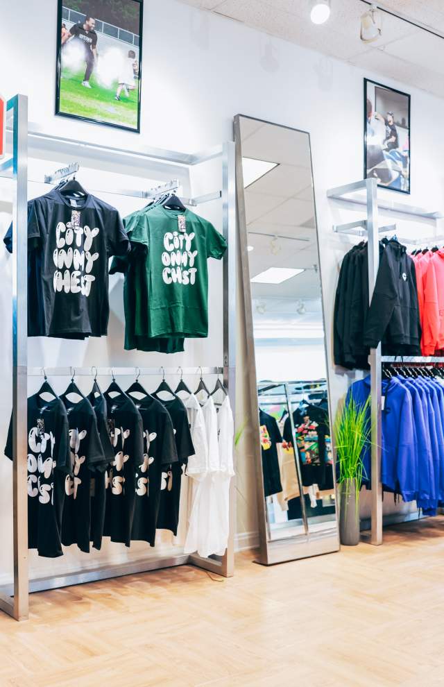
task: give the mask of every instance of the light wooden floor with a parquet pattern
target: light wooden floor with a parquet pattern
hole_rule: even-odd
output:
[[[444,685],[444,519],[379,548],[236,576],[191,567],[31,595],[0,614],[1,687]]]

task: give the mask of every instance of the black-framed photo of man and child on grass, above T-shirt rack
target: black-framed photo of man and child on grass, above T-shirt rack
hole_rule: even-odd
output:
[[[58,0],[56,114],[140,131],[143,0]]]

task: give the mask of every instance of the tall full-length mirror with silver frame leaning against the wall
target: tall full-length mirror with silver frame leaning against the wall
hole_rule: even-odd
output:
[[[309,134],[237,115],[237,198],[264,564],[339,549]]]

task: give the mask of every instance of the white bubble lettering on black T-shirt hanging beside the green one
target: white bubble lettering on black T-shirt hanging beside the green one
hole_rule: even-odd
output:
[[[80,226],[80,211],[72,210],[71,221],[59,222],[56,227],[56,246],[53,261],[56,271],[53,275],[54,291],[65,291],[65,294],[89,296],[92,283],[96,280],[92,274],[94,262],[99,253],[92,251],[92,245],[99,228],[90,229]]]

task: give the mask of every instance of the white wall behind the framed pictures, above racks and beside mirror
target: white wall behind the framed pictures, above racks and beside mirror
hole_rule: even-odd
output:
[[[388,75],[361,71],[176,0],[145,0],[145,6],[140,135],[54,116],[53,0],[1,3],[0,59],[8,69],[1,71],[0,92],[28,94],[31,121],[48,131],[91,141],[111,139],[128,147],[203,149],[232,138],[232,117],[238,112],[309,131],[330,341],[338,266],[350,245],[332,234],[332,223],[359,214],[334,207],[325,192],[363,174],[363,77],[377,76],[411,93],[412,194],[404,198],[386,192],[386,196],[430,210],[443,203],[444,102],[395,83]],[[19,16],[26,22],[18,24]],[[268,42],[273,51],[265,50]],[[401,235],[404,228],[399,224]],[[419,232],[418,221],[414,226]],[[331,345],[328,356],[331,365]],[[333,400],[344,393],[349,381],[332,376]],[[255,527],[251,470],[249,460],[239,465],[238,487],[243,485],[244,490],[239,495],[241,531]]]

